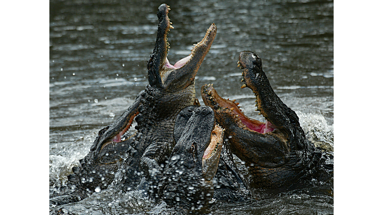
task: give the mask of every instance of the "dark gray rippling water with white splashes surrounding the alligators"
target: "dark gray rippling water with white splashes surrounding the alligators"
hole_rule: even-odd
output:
[[[50,0],[50,187],[65,183],[97,132],[116,120],[145,89],[146,62],[156,40],[156,12],[161,3]],[[172,64],[190,54],[192,44],[202,39],[211,23],[217,26],[213,46],[196,76],[197,92],[203,84],[213,83],[220,96],[236,99],[245,114],[259,119],[253,94],[240,89],[241,70],[236,64],[240,51],[253,51],[262,58],[274,91],[297,112],[308,138],[332,149],[332,0],[166,3],[175,27],[168,36]],[[332,183],[313,182],[313,188],[281,194],[254,191],[258,198],[253,202],[213,204],[208,213],[333,214]],[[147,214],[154,206],[140,197],[137,192],[120,193],[101,203],[91,199],[83,205],[92,209],[85,211],[102,214]],[[154,213],[161,210],[156,206]]]

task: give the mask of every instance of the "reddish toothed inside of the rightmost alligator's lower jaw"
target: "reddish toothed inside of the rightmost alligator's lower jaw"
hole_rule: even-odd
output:
[[[219,109],[221,112],[226,112],[232,119],[234,119],[239,127],[262,134],[277,129],[276,126],[268,120],[266,120],[266,122],[261,122],[247,117],[243,114],[242,110],[239,109],[239,103],[235,103],[235,100],[231,101],[229,99],[221,98],[213,88],[212,84],[202,86],[201,94],[205,105],[210,106],[215,109],[215,111]]]

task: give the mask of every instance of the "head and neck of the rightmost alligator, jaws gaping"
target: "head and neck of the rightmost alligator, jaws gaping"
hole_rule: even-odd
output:
[[[321,151],[306,140],[297,114],[274,93],[262,61],[252,52],[239,54],[244,85],[255,97],[256,110],[266,118],[260,122],[245,116],[238,103],[219,97],[212,85],[201,88],[203,102],[215,113],[215,120],[225,128],[230,148],[251,174],[250,186],[273,189],[286,187],[312,173]]]

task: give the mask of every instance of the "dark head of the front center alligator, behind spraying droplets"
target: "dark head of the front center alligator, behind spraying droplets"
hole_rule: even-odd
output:
[[[188,210],[205,207],[213,196],[214,177],[222,149],[223,130],[209,107],[184,108],[177,117],[177,141],[159,183],[158,196],[168,205]]]

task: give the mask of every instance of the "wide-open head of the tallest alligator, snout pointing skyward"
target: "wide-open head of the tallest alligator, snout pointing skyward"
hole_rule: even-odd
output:
[[[157,12],[158,33],[155,48],[148,61],[148,80],[152,87],[176,91],[194,83],[199,66],[215,38],[216,26],[211,24],[204,38],[194,45],[191,54],[172,65],[167,58],[170,48],[167,34],[170,28],[173,28],[168,17],[169,10],[168,5],[162,4]]]

